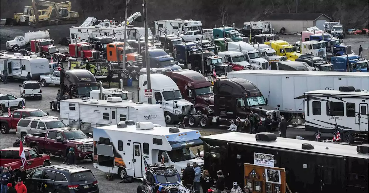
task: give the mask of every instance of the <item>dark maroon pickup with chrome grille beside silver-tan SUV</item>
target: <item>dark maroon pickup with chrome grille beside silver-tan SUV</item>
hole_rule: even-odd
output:
[[[55,128],[44,133],[28,134],[25,136],[27,147],[36,149],[56,157],[65,157],[73,148],[77,160],[93,160],[93,138],[87,137],[79,129]]]

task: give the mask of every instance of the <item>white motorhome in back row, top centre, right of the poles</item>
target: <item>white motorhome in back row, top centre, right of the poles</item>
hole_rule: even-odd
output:
[[[155,21],[155,35],[184,34],[187,31],[201,30],[203,24],[195,20],[160,20]]]

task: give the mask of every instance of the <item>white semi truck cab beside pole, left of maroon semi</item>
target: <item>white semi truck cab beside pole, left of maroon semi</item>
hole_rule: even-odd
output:
[[[195,108],[192,103],[183,99],[182,94],[170,77],[163,74],[151,74],[151,88],[153,97],[152,103],[160,104],[163,107],[166,124],[172,124],[173,121],[179,121],[184,116],[195,114]],[[138,99],[142,103],[148,103],[145,97],[145,89],[147,89],[147,76],[139,76]],[[195,125],[194,127],[197,127]]]

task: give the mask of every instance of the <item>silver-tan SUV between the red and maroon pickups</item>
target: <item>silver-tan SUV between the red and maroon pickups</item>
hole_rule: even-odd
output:
[[[45,116],[45,117],[27,117],[21,118],[17,124],[17,135],[18,138],[22,139],[25,144],[25,135],[42,133],[48,129],[68,127],[59,118]]]

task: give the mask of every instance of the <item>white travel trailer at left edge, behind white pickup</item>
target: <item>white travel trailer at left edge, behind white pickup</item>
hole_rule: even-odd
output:
[[[0,54],[0,76],[3,77],[3,70],[7,70],[8,79],[27,79],[30,72],[32,80],[39,80],[41,75],[50,73],[49,60],[38,58],[36,55],[22,56],[20,53]]]

